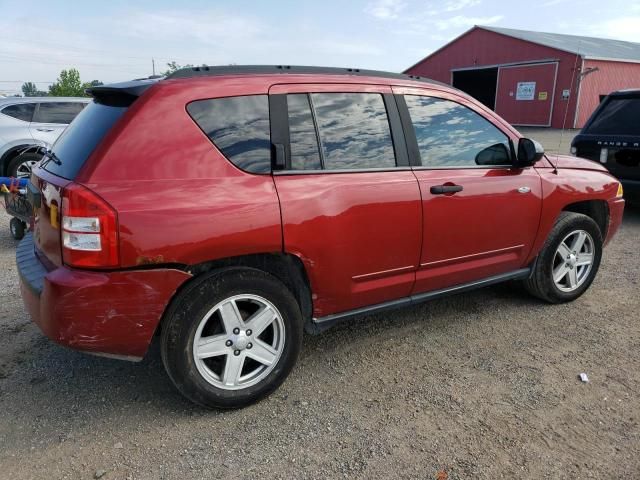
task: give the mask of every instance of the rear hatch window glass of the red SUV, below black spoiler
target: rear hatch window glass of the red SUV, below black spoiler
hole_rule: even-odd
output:
[[[62,178],[73,180],[91,152],[111,129],[127,107],[90,103],[60,135],[51,150],[54,155],[43,168]]]

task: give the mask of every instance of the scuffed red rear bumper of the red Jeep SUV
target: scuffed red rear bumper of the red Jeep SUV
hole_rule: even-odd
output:
[[[16,252],[20,290],[33,321],[51,340],[131,360],[144,356],[178,287],[191,277],[175,269],[47,271],[32,235]]]

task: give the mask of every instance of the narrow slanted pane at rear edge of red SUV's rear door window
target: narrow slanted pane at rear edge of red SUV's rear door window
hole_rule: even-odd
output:
[[[293,170],[319,170],[322,168],[318,137],[306,93],[287,95],[289,110],[289,141]]]

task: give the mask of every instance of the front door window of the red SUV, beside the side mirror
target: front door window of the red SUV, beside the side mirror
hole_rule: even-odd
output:
[[[404,98],[423,166],[511,164],[509,138],[473,110],[441,98]]]

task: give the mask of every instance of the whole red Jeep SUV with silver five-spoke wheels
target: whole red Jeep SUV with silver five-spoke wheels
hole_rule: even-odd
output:
[[[464,93],[317,67],[198,67],[90,89],[28,185],[25,304],[54,341],[237,407],[303,330],[505,280],[580,296],[619,182],[545,156]]]

